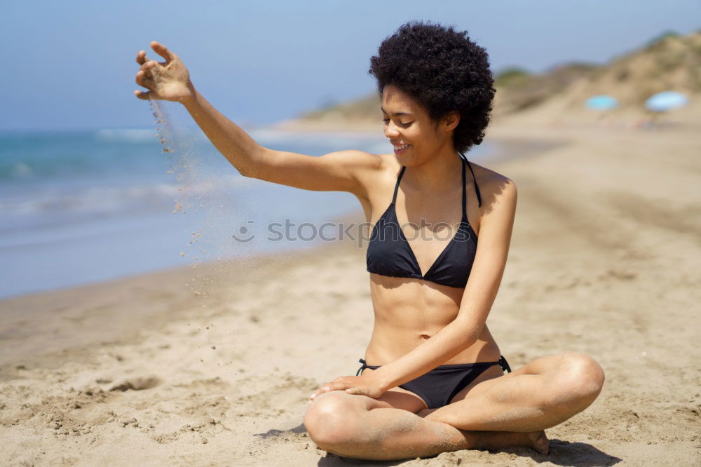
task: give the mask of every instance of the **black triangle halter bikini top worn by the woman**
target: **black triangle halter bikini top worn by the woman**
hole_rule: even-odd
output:
[[[461,157],[461,159],[463,161],[463,218],[456,234],[426,271],[426,274],[421,273],[416,256],[414,256],[409,241],[400,228],[395,211],[397,190],[406,168],[404,166],[397,177],[392,203],[372,229],[366,255],[368,272],[381,276],[423,279],[450,287],[465,287],[467,285],[472,262],[475,260],[475,252],[477,252],[477,234],[470,226],[465,207],[465,163],[470,167],[472,180],[475,181],[475,193],[479,207],[482,207],[482,196],[479,194],[472,165],[467,158]]]

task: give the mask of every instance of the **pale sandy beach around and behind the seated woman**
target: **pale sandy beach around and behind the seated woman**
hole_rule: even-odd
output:
[[[487,166],[519,189],[489,328],[512,367],[582,351],[606,372],[598,400],[547,431],[550,455],[370,463],[315,447],[308,395],[355,374],[372,329],[365,249],[339,242],[0,302],[0,463],[699,465],[701,132],[487,134],[505,148]]]

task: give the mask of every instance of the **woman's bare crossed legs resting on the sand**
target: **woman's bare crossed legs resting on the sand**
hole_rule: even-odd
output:
[[[603,381],[604,373],[592,358],[565,353],[539,358],[501,377],[498,370],[488,370],[451,404],[433,410],[402,388],[379,399],[324,393],[310,405],[304,425],[322,449],[358,459],[411,459],[517,446],[547,453],[543,430],[584,410]]]

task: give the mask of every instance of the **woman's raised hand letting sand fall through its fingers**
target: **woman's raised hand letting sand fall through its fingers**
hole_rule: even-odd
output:
[[[135,90],[134,95],[143,100],[186,102],[191,99],[195,95],[195,89],[182,60],[161,43],[151,42],[151,48],[165,58],[165,62],[149,60],[144,50],[137,53],[136,62],[141,65],[141,69],[136,74],[136,82],[148,91]]]

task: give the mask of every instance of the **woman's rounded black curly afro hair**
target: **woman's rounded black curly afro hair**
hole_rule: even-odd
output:
[[[380,95],[388,84],[397,86],[423,105],[435,123],[458,111],[456,151],[463,154],[482,142],[496,89],[489,55],[467,31],[407,22],[382,41],[368,73],[375,76]]]

